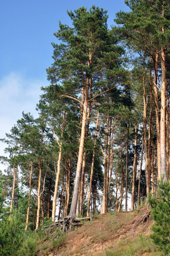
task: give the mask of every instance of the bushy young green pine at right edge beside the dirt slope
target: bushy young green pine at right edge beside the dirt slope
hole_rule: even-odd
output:
[[[151,206],[151,216],[155,221],[152,226],[153,242],[166,255],[170,255],[170,184],[169,181],[163,182],[163,178],[158,185],[158,197],[149,195]]]

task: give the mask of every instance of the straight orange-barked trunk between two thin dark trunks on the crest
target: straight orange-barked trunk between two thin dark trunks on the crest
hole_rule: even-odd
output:
[[[135,192],[135,182],[136,182],[136,167],[137,167],[137,127],[135,127],[135,136],[134,136],[134,164],[133,164],[133,184],[132,184],[132,202],[131,202],[131,211],[134,210],[134,192]]]

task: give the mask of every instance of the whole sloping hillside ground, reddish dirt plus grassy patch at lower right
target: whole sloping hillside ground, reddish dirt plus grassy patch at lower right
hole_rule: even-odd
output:
[[[149,213],[149,207],[143,206],[137,211],[95,215],[92,222],[67,233],[60,245],[48,242],[36,256],[161,255],[148,237],[153,224]]]

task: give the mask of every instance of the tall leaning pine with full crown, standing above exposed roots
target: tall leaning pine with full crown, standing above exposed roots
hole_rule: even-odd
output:
[[[117,63],[122,49],[115,45],[116,38],[107,29],[108,16],[103,9],[92,6],[88,12],[82,7],[75,13],[68,12],[68,14],[73,21],[73,28],[60,23],[60,30],[55,36],[62,43],[53,44],[54,63],[47,73],[48,79],[53,84],[61,81],[64,87],[61,96],[72,99],[83,112],[77,171],[69,213],[74,219],[84,153],[87,109],[89,102],[98,96],[100,90],[101,93],[105,92],[105,81],[100,82],[101,72],[112,63]],[[80,96],[81,92],[82,96]]]

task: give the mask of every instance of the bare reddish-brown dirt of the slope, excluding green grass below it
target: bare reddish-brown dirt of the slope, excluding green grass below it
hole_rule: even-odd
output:
[[[69,232],[59,248],[54,248],[52,252],[44,255],[104,255],[106,248],[120,246],[120,242],[126,246],[127,239],[133,241],[139,234],[149,235],[151,224],[148,207],[142,207],[136,212],[96,215],[91,223],[85,222],[81,227]],[[144,252],[140,255],[151,254]]]

